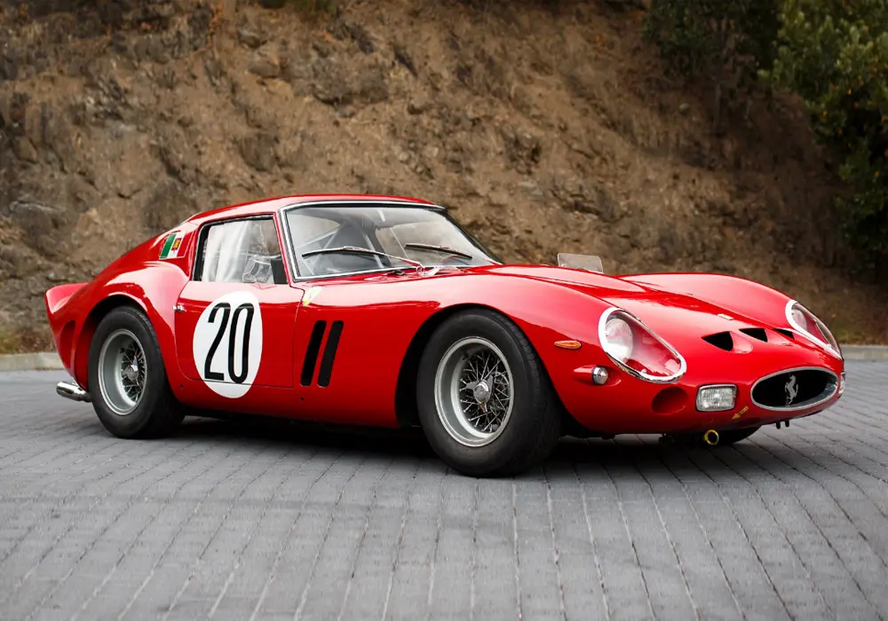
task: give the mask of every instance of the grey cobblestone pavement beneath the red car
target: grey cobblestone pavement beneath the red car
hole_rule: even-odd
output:
[[[888,617],[888,363],[716,450],[564,441],[515,480],[416,436],[124,441],[0,374],[0,619]]]

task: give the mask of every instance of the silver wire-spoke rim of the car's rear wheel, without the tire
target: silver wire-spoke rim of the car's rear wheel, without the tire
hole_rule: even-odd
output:
[[[129,330],[108,335],[99,352],[99,390],[108,407],[119,416],[136,409],[145,390],[145,351]]]

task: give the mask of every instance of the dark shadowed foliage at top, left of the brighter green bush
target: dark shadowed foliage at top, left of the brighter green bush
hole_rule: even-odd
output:
[[[681,75],[715,87],[716,125],[723,96],[749,91],[770,68],[778,0],[652,0],[645,35]],[[726,92],[725,92],[726,90]]]

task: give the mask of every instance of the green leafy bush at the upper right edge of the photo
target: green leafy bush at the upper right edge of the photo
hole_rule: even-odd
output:
[[[847,231],[870,266],[888,256],[888,3],[786,0],[765,79],[797,92],[840,159]]]

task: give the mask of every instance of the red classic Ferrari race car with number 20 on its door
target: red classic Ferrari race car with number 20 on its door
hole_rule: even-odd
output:
[[[503,264],[424,200],[290,196],[194,216],[46,308],[115,436],[246,413],[416,427],[473,476],[561,436],[731,444],[844,390],[829,329],[749,280]]]

